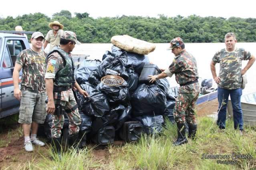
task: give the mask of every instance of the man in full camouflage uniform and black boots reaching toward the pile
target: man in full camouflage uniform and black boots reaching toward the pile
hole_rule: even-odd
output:
[[[189,125],[188,137],[194,140],[197,130],[196,121],[196,101],[200,93],[200,85],[198,83],[198,68],[196,59],[185,50],[185,44],[179,37],[171,40],[171,52],[175,55],[173,63],[159,75],[150,75],[149,82],[154,82],[157,79],[162,79],[167,76],[171,77],[175,74],[175,79],[180,85],[179,95],[176,99],[173,109],[173,116],[177,123],[178,137],[174,142],[175,146],[187,143],[185,136],[185,123]]]

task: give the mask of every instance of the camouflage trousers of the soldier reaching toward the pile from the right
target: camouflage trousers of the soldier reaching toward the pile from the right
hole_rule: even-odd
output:
[[[196,124],[196,101],[199,93],[179,93],[175,107],[173,109],[173,116],[177,123]]]

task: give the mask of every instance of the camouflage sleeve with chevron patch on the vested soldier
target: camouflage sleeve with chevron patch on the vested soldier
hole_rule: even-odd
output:
[[[63,59],[57,52],[52,53],[48,58],[46,65],[45,78],[54,79],[58,70],[63,68]]]

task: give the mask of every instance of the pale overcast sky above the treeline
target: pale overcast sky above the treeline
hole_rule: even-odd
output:
[[[87,12],[93,18],[157,14],[256,18],[254,0],[1,0],[0,17],[41,12],[51,17],[60,10]]]

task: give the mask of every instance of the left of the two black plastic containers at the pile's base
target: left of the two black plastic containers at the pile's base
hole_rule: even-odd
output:
[[[92,138],[96,144],[114,143],[115,128],[112,126],[100,128]]]

